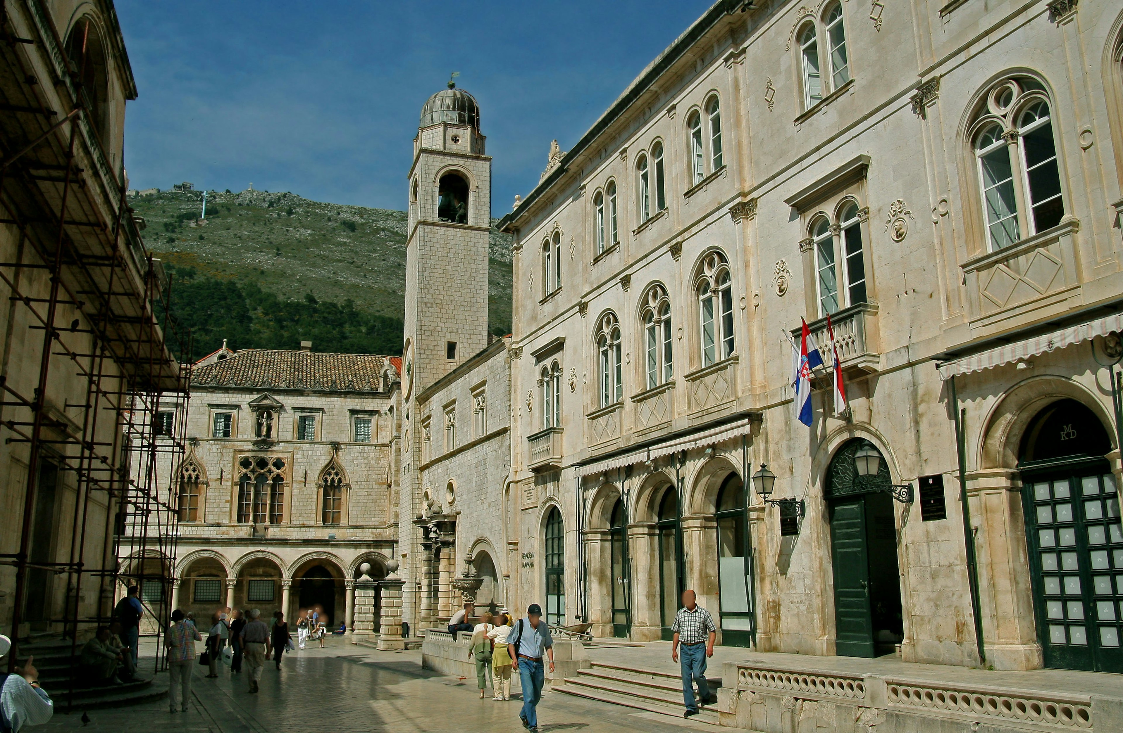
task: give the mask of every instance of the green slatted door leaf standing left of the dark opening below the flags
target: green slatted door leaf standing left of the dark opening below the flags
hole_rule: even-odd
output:
[[[869,559],[866,551],[864,496],[831,504],[834,566],[836,653],[874,657],[874,623],[869,605]]]

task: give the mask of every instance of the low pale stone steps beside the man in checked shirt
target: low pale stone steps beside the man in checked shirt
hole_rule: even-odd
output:
[[[700,708],[692,721],[718,725],[718,688],[721,678],[712,677],[710,694],[714,703]],[[575,677],[567,677],[564,685],[555,685],[555,693],[634,707],[650,713],[682,717],[683,680],[678,675],[620,665],[593,663],[581,669]]]

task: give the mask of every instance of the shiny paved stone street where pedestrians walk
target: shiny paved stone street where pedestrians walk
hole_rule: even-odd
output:
[[[147,662],[147,665],[145,663]],[[141,660],[143,667],[152,660]],[[222,668],[219,679],[207,679],[206,667],[195,666],[193,699],[186,714],[167,712],[167,699],[119,709],[89,712],[83,726],[81,712],[58,712],[40,733],[53,731],[113,731],[131,733],[263,733],[263,732],[367,732],[394,731],[522,731],[512,699],[495,703],[491,694],[478,698],[475,679],[444,677],[421,668],[419,650],[378,652],[338,645],[286,654],[279,674],[272,663],[262,675],[262,691],[246,693],[246,674],[230,675]],[[167,672],[158,681],[166,685]],[[710,730],[709,725],[629,711],[593,700],[547,691],[538,706],[542,731],[596,731],[596,733],[681,733]]]

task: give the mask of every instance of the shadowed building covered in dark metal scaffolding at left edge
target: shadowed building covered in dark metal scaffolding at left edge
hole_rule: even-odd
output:
[[[168,604],[150,599],[170,595],[177,515],[157,474],[166,467],[174,486],[184,452],[190,366],[170,354],[190,354],[190,337],[171,318],[171,282],[144,247],[125,172],[111,169],[102,148],[82,83],[84,37],[81,48],[67,57],[39,0],[3,2],[0,437],[8,466],[26,466],[18,483],[10,468],[6,476],[17,497],[9,506],[20,510],[6,517],[16,551],[0,553],[0,568],[15,570],[3,588],[12,598],[9,672],[26,656],[19,642],[37,584],[54,589],[44,592],[51,603],[39,631],[61,633],[72,654],[110,622],[122,583],[149,599],[157,634],[168,623]],[[48,468],[66,476],[70,493],[63,501],[49,489],[56,506],[44,558],[36,507],[47,501]],[[71,675],[71,694],[74,686]]]

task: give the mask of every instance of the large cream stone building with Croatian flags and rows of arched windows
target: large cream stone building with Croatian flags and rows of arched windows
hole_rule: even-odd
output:
[[[551,154],[500,225],[508,601],[649,640],[692,587],[724,644],[1123,671],[1121,33],[722,0]]]

